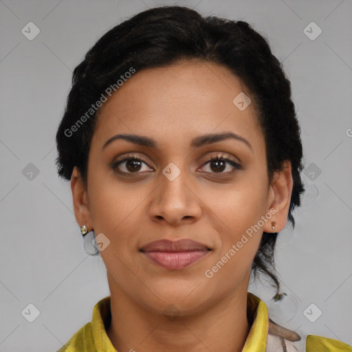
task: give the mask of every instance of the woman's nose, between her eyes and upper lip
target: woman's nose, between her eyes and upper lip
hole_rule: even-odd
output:
[[[201,217],[201,200],[184,170],[175,179],[161,173],[153,197],[149,208],[153,221],[166,221],[176,226],[192,223]]]

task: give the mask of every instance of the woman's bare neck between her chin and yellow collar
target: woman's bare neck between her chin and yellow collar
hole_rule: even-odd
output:
[[[107,334],[116,351],[242,351],[250,331],[248,285],[193,314],[166,317],[138,305],[108,278],[111,325]]]

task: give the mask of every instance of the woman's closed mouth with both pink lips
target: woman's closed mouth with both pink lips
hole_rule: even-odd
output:
[[[200,261],[212,250],[190,239],[159,240],[144,245],[140,252],[153,263],[168,270],[180,270]]]

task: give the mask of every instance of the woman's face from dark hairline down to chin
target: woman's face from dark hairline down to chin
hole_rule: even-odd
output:
[[[137,72],[100,108],[87,206],[76,211],[100,236],[111,294],[155,312],[172,304],[186,314],[247,292],[263,230],[272,232],[271,221],[276,231],[285,226],[287,199],[268,182],[253,104],[243,109],[243,96],[233,102],[245,91],[221,65],[183,61]],[[201,137],[224,133],[239,137]],[[116,135],[148,143],[111,140]],[[220,160],[209,162],[214,157]],[[141,251],[162,239],[203,248]]]

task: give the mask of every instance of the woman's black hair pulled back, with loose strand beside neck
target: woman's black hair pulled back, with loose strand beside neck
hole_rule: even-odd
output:
[[[131,67],[138,72],[192,58],[228,67],[250,91],[265,137],[269,180],[275,171],[283,170],[286,161],[292,164],[294,185],[288,220],[294,227],[292,210],[300,206],[300,194],[305,190],[300,179],[303,148],[291,84],[282,65],[272,54],[267,39],[250,24],[202,17],[186,7],[151,8],[116,25],[74,69],[72,89],[56,134],[58,175],[69,180],[77,166],[87,185],[87,161],[97,115],[90,109],[108,87],[118,89],[118,78],[131,72]],[[278,232],[263,233],[252,273],[254,278],[259,272],[272,278],[278,294],[280,283],[274,267],[277,235]]]

